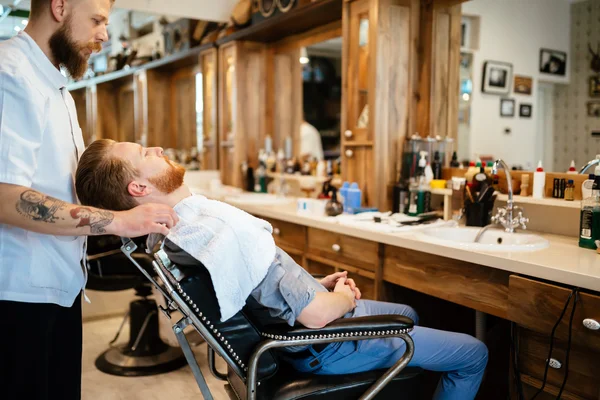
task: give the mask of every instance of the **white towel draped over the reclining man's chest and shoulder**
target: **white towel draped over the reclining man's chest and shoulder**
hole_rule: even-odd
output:
[[[167,238],[204,264],[215,288],[221,321],[226,321],[244,307],[273,263],[273,228],[201,195],[183,199],[174,210],[179,222]]]

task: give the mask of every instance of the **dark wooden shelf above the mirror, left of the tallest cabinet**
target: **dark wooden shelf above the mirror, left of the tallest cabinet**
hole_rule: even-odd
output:
[[[260,43],[277,42],[287,36],[297,35],[313,28],[342,19],[343,0],[316,0],[264,21],[240,29],[221,39],[221,46],[234,40],[247,40]]]

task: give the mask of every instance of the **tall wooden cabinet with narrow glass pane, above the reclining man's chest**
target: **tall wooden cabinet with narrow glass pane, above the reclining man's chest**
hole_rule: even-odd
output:
[[[221,180],[243,187],[242,163],[258,165],[264,139],[267,51],[263,44],[229,42],[218,56]]]

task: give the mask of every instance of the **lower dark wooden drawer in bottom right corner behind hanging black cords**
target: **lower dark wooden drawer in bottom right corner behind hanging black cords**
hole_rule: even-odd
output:
[[[544,369],[546,368],[546,359],[550,350],[550,336],[532,332],[526,329],[519,329],[519,367],[521,376],[525,381],[535,382],[541,386],[544,379]],[[552,358],[559,361],[560,368],[548,368],[548,379],[546,390],[548,393],[554,393],[562,386],[566,368],[567,343],[554,341],[552,348]],[[569,355],[569,379],[563,393],[573,394],[584,399],[597,399],[600,393],[600,382],[597,377],[600,376],[600,363],[597,362],[600,354],[581,349],[577,346],[571,346]],[[528,379],[533,378],[533,379]],[[554,389],[554,390],[553,390]],[[556,398],[554,393],[554,397]],[[530,398],[530,397],[527,397]]]

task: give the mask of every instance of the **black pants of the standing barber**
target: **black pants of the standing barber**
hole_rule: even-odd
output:
[[[0,300],[0,399],[81,398],[81,295],[70,308]]]

